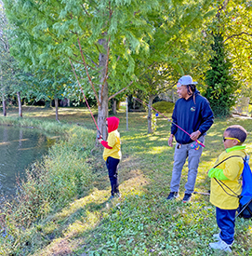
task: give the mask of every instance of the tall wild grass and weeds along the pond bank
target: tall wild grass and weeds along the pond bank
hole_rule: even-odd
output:
[[[8,122],[11,123],[10,120]],[[54,144],[42,162],[26,169],[26,181],[20,181],[17,196],[1,207],[1,255],[25,255],[25,248],[29,248],[27,245],[33,236],[34,223],[84,195],[94,175],[86,163],[95,143],[94,131],[77,126],[59,128],[57,124],[39,120],[14,123],[50,132],[60,130],[67,139]]]

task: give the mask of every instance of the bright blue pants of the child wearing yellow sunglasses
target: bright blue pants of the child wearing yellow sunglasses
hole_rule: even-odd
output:
[[[231,245],[234,236],[236,209],[219,209],[216,208],[216,221],[220,229],[219,237]]]

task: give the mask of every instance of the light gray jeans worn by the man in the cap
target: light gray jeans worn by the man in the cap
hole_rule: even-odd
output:
[[[202,136],[198,141],[201,141],[204,143],[205,136]],[[179,192],[179,182],[181,178],[181,172],[187,157],[188,157],[188,175],[187,175],[187,182],[185,184],[185,194],[192,194],[194,190],[194,185],[197,178],[198,166],[200,162],[200,156],[202,155],[203,147],[200,147],[198,150],[194,150],[191,148],[191,145],[192,143],[183,144],[183,145],[179,145],[179,143],[176,143],[172,178],[170,182],[171,192]]]

